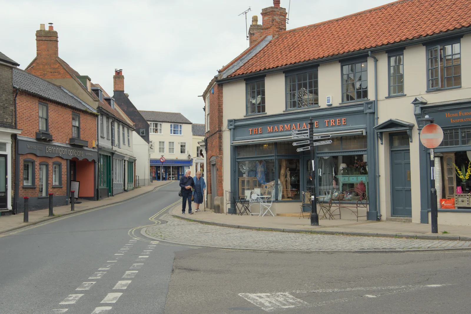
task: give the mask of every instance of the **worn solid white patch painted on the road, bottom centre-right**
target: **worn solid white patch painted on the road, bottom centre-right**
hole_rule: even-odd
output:
[[[259,306],[262,310],[273,312],[280,309],[293,308],[298,306],[309,306],[309,303],[293,297],[288,292],[279,293],[239,293],[250,303]]]

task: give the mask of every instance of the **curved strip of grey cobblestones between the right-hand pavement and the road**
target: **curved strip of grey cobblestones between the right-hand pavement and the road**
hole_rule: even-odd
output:
[[[188,222],[165,215],[168,223],[148,227],[147,236],[195,246],[299,251],[354,251],[373,249],[471,248],[471,241],[418,240],[254,231]]]

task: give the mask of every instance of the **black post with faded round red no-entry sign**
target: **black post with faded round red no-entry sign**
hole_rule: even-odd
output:
[[[437,190],[435,189],[435,161],[433,158],[433,149],[439,146],[442,142],[443,130],[438,124],[434,124],[433,118],[429,118],[429,116],[425,116],[424,119],[419,120],[430,122],[430,124],[425,125],[420,132],[420,141],[423,146],[430,149],[430,223],[432,225],[432,233],[438,233]]]

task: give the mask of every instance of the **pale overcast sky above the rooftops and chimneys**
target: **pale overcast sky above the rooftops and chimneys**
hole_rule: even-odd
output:
[[[281,0],[287,29],[319,23],[388,0]],[[114,69],[139,110],[181,112],[204,123],[198,97],[217,70],[248,47],[252,16],[272,0],[0,0],[0,51],[24,69],[36,56],[35,33],[54,23],[59,57],[113,95]],[[361,32],[361,30],[358,30]],[[300,43],[302,45],[302,43]]]

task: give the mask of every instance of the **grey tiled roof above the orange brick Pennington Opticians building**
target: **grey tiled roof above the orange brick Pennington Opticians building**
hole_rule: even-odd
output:
[[[95,109],[84,105],[81,101],[69,95],[56,84],[50,83],[39,76],[18,68],[13,68],[13,84],[22,91],[32,93],[44,99],[49,99],[80,110],[95,111]]]

